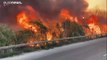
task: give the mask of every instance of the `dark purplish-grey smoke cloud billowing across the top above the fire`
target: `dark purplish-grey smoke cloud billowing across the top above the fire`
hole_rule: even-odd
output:
[[[22,1],[22,5],[3,5],[3,1]],[[0,0],[0,23],[16,24],[16,15],[23,9],[19,6],[32,6],[42,17],[57,17],[60,10],[68,9],[71,14],[79,16],[88,7],[85,0]]]

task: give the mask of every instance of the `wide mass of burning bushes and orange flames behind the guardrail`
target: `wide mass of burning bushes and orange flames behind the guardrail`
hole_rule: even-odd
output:
[[[27,43],[102,33],[98,16],[78,17],[71,13],[68,9],[62,8],[57,17],[47,18],[40,16],[39,12],[31,6],[27,6],[26,10],[18,13],[17,22],[22,28],[32,31],[33,35],[37,37],[27,39]]]

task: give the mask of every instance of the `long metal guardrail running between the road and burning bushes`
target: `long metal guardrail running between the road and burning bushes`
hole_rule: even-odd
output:
[[[102,36],[102,34],[100,34]],[[92,36],[98,36],[98,35],[92,35]],[[39,42],[33,42],[33,43],[22,43],[22,44],[17,44],[17,45],[10,45],[10,46],[4,46],[0,47],[0,50],[5,50],[5,49],[11,49],[11,48],[17,48],[17,47],[23,47],[23,46],[28,46],[29,44],[40,44],[40,43],[46,43],[46,42],[53,42],[53,41],[60,41],[60,40],[68,40],[68,39],[75,39],[75,38],[89,38],[90,36],[76,36],[76,37],[65,37],[65,38],[60,38],[60,39],[54,39],[54,40],[44,40],[44,41],[39,41]]]

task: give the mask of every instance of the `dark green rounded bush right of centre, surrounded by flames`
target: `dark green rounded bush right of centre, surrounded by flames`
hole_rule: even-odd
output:
[[[65,20],[63,23],[64,28],[64,36],[65,37],[72,37],[72,36],[79,36],[84,35],[84,30],[81,25],[76,22],[71,22],[70,20]]]

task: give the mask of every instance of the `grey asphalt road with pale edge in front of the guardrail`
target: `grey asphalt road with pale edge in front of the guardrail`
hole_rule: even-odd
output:
[[[74,43],[0,60],[106,60],[107,38]]]

